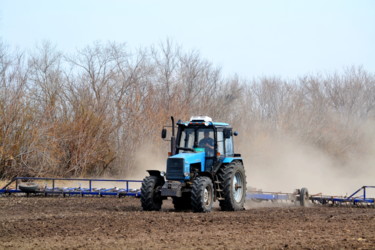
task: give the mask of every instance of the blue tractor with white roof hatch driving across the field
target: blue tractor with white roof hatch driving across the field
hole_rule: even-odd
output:
[[[246,175],[240,154],[234,153],[233,132],[227,123],[207,116],[172,120],[171,152],[167,171],[148,170],[143,179],[141,203],[145,211],[158,211],[171,197],[176,210],[210,212],[218,200],[221,210],[244,209]],[[166,128],[162,138],[167,136]]]

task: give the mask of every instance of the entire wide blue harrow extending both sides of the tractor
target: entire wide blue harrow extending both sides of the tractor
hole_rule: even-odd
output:
[[[61,183],[79,183],[78,187],[58,187]],[[43,184],[44,185],[41,185]],[[99,188],[94,187],[105,183],[105,186],[120,184],[121,187]],[[111,183],[111,184],[110,184]],[[35,195],[63,195],[65,196],[133,196],[140,197],[140,180],[122,180],[122,179],[82,179],[82,178],[41,178],[41,177],[15,177],[2,189],[1,194],[30,194]],[[82,185],[83,184],[83,185]],[[13,188],[10,188],[10,187]],[[375,189],[375,186],[362,186],[349,196],[333,196],[314,194],[309,195],[307,188],[296,189],[292,193],[283,192],[264,192],[249,188],[246,199],[254,202],[273,202],[273,203],[293,203],[301,206],[312,204],[329,206],[361,206],[374,207],[375,198],[368,197],[368,189]]]

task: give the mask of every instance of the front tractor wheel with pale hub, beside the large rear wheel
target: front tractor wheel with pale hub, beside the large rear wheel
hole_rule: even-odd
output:
[[[209,177],[198,176],[193,181],[191,206],[194,212],[211,212],[213,204],[213,185]]]

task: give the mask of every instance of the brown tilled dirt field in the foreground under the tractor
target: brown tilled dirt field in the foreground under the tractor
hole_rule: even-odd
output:
[[[375,209],[143,212],[137,198],[0,197],[3,249],[375,248]]]

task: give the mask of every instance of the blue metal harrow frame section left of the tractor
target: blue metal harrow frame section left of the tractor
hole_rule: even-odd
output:
[[[13,178],[7,185],[5,185],[2,189],[0,189],[0,194],[12,194],[12,193],[26,193],[18,188],[19,180],[26,180],[26,181],[52,181],[52,188],[45,187],[42,190],[37,190],[33,193],[44,194],[47,196],[48,194],[62,194],[63,196],[66,195],[116,195],[116,196],[135,196],[140,197],[141,192],[140,188],[131,189],[129,188],[131,183],[142,183],[139,180],[119,180],[119,179],[90,179],[90,178],[43,178],[43,177],[15,177]],[[56,187],[56,181],[84,181],[88,182],[88,188],[59,188]],[[15,189],[9,189],[12,183],[16,184]],[[125,183],[125,188],[93,188],[94,182],[123,182]]]

